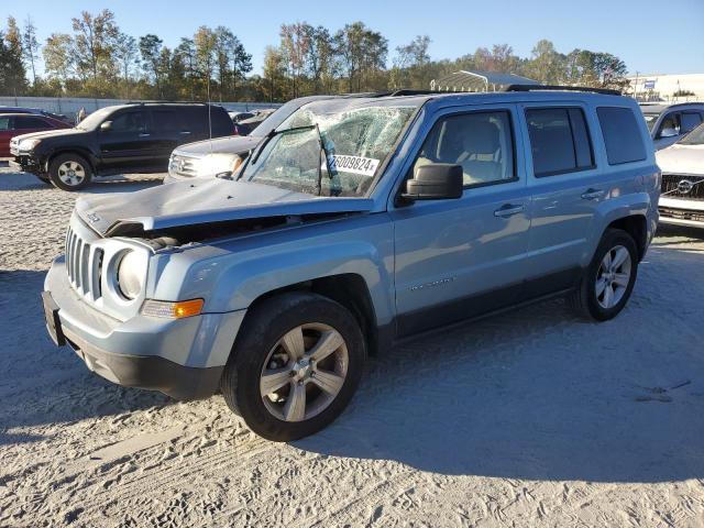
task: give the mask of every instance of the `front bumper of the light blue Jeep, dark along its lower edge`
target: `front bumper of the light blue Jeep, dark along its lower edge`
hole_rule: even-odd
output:
[[[176,399],[206,398],[217,391],[244,317],[240,310],[118,321],[72,288],[63,257],[54,261],[44,289],[55,306],[61,336],[89,370],[119,385],[160,391]]]

